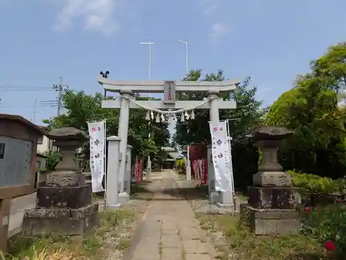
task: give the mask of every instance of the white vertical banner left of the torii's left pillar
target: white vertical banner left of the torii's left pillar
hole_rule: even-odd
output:
[[[104,126],[105,121],[88,123],[90,136],[90,171],[93,192],[104,191]]]

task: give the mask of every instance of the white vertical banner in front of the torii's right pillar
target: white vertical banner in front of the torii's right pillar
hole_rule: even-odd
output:
[[[232,191],[230,147],[226,121],[209,122],[212,137],[212,163],[215,170],[215,189]]]

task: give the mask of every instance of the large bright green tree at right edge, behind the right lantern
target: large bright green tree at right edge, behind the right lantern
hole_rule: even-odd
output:
[[[346,45],[331,46],[271,106],[265,123],[294,131],[281,150],[285,168],[328,177],[345,175],[345,108],[340,107],[345,62]]]

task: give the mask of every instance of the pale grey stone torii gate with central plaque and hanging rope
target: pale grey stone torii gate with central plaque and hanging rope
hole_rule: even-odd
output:
[[[210,121],[219,121],[219,110],[235,109],[235,101],[223,101],[220,92],[236,89],[240,80],[224,81],[173,81],[173,80],[109,80],[100,76],[98,83],[105,92],[118,92],[120,98],[102,101],[102,108],[120,108],[118,137],[120,137],[120,192],[124,191],[129,109],[146,109],[160,114],[176,114],[191,110],[210,110]],[[176,92],[208,92],[205,101],[176,101]],[[164,93],[163,101],[135,101],[134,93]],[[163,111],[170,110],[170,111]],[[174,111],[176,110],[176,111]],[[190,167],[188,162],[187,167]],[[150,171],[147,171],[147,175]],[[117,186],[117,185],[116,185]]]

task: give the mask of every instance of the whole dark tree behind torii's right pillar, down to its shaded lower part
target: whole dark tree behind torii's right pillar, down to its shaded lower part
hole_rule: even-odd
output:
[[[190,74],[184,80],[201,80],[201,70],[190,71]],[[223,71],[206,74],[203,80],[222,81],[224,80]],[[252,174],[257,171],[258,153],[246,135],[255,125],[262,123],[262,116],[265,110],[260,109],[261,102],[255,99],[256,87],[249,87],[251,78],[246,78],[242,84],[233,92],[222,92],[220,98],[224,101],[235,101],[237,108],[235,110],[220,110],[220,120],[230,120],[230,135],[233,137],[233,174],[235,187],[246,189],[251,184]],[[179,100],[202,101],[208,97],[207,93],[181,93]],[[198,110],[195,112],[195,119],[176,123],[176,132],[174,142],[185,150],[188,144],[205,142],[210,144],[209,130],[209,111]],[[189,134],[188,134],[189,131]]]

